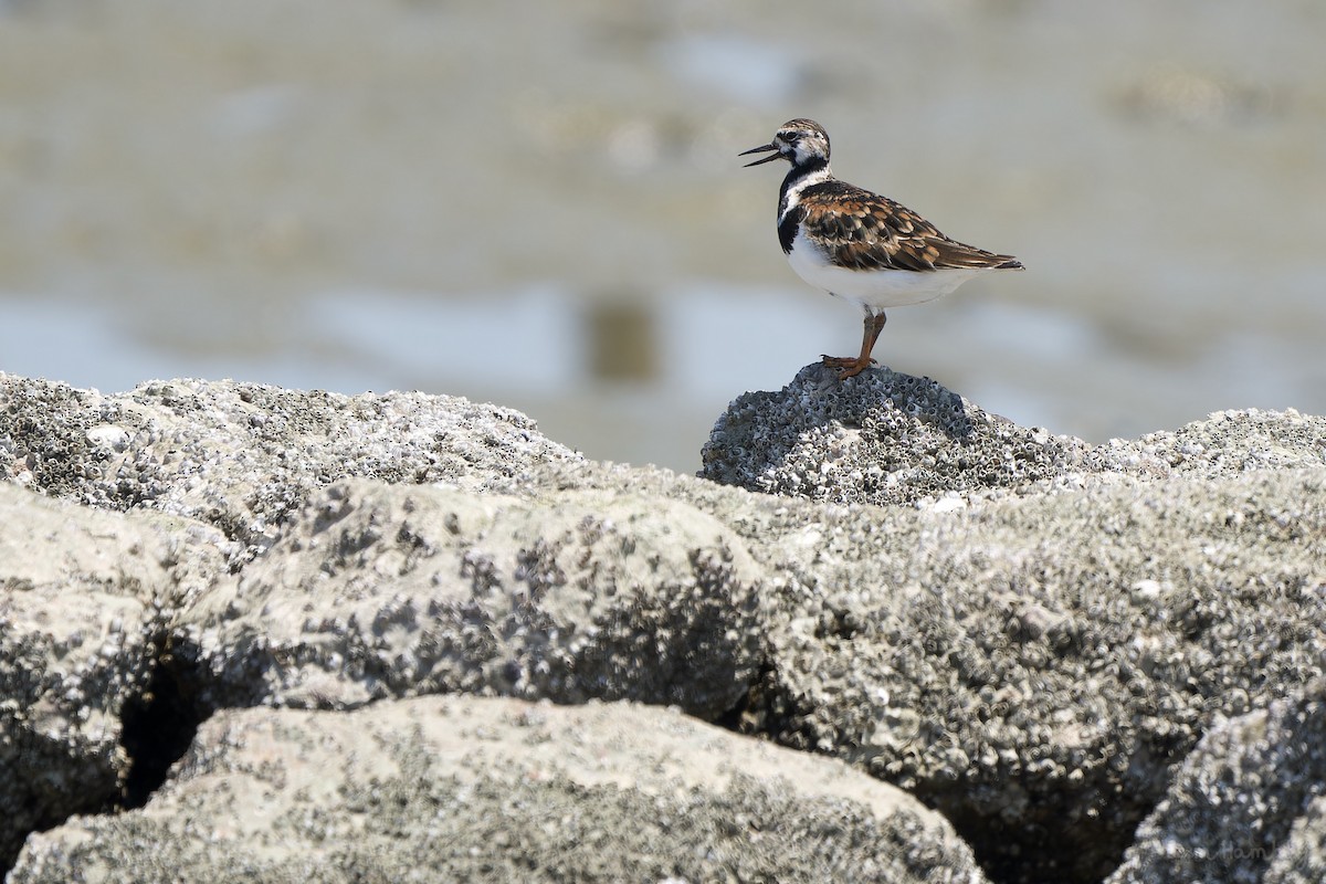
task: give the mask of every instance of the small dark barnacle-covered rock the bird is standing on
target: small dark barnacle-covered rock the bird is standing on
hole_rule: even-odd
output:
[[[700,474],[766,494],[910,504],[1087,469],[1091,447],[1026,429],[931,380],[821,363],[778,392],[739,396],[713,427]]]

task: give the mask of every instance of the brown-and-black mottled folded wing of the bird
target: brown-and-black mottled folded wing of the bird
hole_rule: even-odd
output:
[[[1022,266],[1010,254],[951,240],[906,205],[843,182],[808,187],[797,208],[806,235],[853,270]]]

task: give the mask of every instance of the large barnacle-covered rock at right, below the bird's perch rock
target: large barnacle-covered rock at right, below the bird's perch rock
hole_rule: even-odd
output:
[[[1322,469],[765,530],[747,728],[912,791],[996,880],[1102,880],[1217,713],[1323,673]]]

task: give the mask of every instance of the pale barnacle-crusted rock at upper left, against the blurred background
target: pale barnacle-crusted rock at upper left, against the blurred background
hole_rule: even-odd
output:
[[[525,415],[419,392],[341,396],[207,380],[102,395],[0,372],[0,476],[110,509],[151,508],[271,546],[310,490],[349,476],[517,489],[579,455]]]

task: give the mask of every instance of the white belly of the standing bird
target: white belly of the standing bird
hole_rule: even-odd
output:
[[[797,231],[788,262],[797,276],[810,285],[851,301],[870,313],[934,301],[981,273],[980,268],[926,272],[849,270],[830,264],[827,256],[806,239],[804,231]]]

